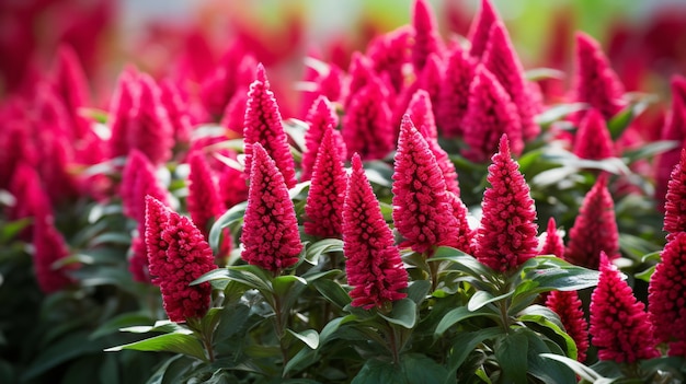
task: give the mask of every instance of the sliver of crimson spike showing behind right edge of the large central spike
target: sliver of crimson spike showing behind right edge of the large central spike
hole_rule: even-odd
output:
[[[410,101],[407,113],[410,115],[410,118],[412,118],[420,133],[422,133],[422,137],[426,140],[426,144],[428,144],[428,149],[434,154],[434,158],[436,158],[436,164],[438,164],[443,173],[446,190],[459,197],[460,189],[457,182],[455,164],[453,164],[448,153],[441,148],[437,141],[438,133],[436,132],[436,124],[434,123],[434,114],[432,112],[428,93],[424,90],[416,91]]]

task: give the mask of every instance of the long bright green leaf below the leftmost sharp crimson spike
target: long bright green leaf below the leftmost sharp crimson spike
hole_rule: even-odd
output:
[[[164,334],[140,341],[107,348],[104,351],[116,352],[123,349],[133,349],[137,351],[149,352],[183,353],[199,359],[202,361],[207,361],[207,358],[205,357],[205,349],[203,349],[201,341],[194,335],[176,333]]]

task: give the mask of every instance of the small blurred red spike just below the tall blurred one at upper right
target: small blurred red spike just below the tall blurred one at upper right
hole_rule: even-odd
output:
[[[579,125],[574,139],[574,154],[581,159],[603,160],[614,156],[614,143],[603,115],[588,110]]]

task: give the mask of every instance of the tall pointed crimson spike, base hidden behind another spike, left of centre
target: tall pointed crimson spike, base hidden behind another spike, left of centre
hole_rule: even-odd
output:
[[[252,172],[253,147],[260,143],[274,159],[287,188],[297,184],[295,164],[288,149],[288,137],[278,112],[274,93],[262,65],[258,65],[258,78],[250,84],[245,105],[243,138],[245,143],[245,172]]]

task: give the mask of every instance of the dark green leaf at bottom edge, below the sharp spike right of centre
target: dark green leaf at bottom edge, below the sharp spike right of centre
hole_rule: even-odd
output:
[[[503,370],[505,383],[526,384],[528,338],[522,331],[507,334],[494,347],[495,360]]]

